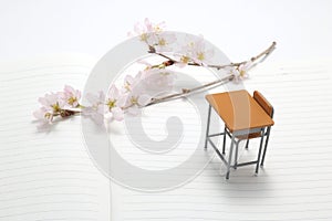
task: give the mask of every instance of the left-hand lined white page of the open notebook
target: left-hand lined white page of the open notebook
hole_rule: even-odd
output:
[[[80,117],[39,131],[38,97],[82,90],[95,60],[60,54],[0,64],[0,220],[102,221],[110,185],[85,149]]]

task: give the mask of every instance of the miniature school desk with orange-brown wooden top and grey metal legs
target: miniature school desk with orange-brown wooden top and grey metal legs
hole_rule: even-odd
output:
[[[236,165],[236,167],[256,164],[256,173],[257,173],[259,168],[259,162],[260,162],[263,137],[266,135],[264,130],[267,127],[270,127],[274,124],[272,118],[245,90],[219,93],[219,94],[209,94],[206,95],[206,99],[209,103],[209,109],[208,109],[205,148],[207,148],[207,144],[209,143],[214,147],[218,156],[221,158],[221,160],[226,164],[227,166],[226,179],[229,178],[230,168],[234,167],[231,166],[231,158],[232,158],[232,151],[235,146],[235,139],[240,136],[248,136],[252,133],[260,133],[260,137],[261,137],[257,160],[239,164]],[[215,112],[224,120],[225,127],[228,129],[229,133],[227,133],[225,128],[224,133],[209,134],[211,107],[214,107]],[[210,139],[210,137],[224,135],[224,150],[225,150],[226,133],[231,138],[228,161],[225,159],[222,155],[225,152],[221,154],[219,149],[216,147],[216,145],[212,143],[212,140]]]

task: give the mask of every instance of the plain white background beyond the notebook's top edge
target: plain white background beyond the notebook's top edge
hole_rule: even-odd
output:
[[[1,0],[0,60],[63,52],[101,57],[144,18],[204,34],[234,62],[272,41],[272,61],[331,57],[331,10],[329,0]]]

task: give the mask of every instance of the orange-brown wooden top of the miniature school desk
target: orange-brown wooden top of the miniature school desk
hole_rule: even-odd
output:
[[[246,90],[206,95],[230,131],[272,126],[274,122]]]

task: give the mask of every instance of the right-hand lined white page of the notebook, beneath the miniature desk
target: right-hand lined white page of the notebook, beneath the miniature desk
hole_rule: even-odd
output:
[[[112,196],[118,208],[118,220],[330,220],[330,63],[331,60],[260,64],[251,72],[245,87],[250,93],[260,91],[276,109],[266,164],[257,177],[255,166],[248,166],[232,169],[230,179],[226,180],[226,168],[215,157],[194,180],[173,190],[149,193],[113,185],[118,193]],[[167,113],[167,106],[163,108],[163,113]],[[178,112],[178,115],[186,114]],[[156,127],[153,120],[146,122],[145,126],[147,129]],[[241,144],[239,161],[255,159],[258,145],[259,140],[251,140],[249,150],[246,150]],[[139,166],[149,169],[156,165],[162,165],[162,169],[167,167],[166,159],[163,165],[158,157],[153,160],[154,156],[146,157],[137,149],[132,151],[135,152],[127,156],[127,160],[133,160],[133,164],[141,161]],[[214,155],[212,148],[209,147],[207,152]],[[178,151],[172,157],[180,161],[186,154],[190,152]],[[201,157],[206,157],[204,151]],[[169,167],[174,164],[170,160]]]

